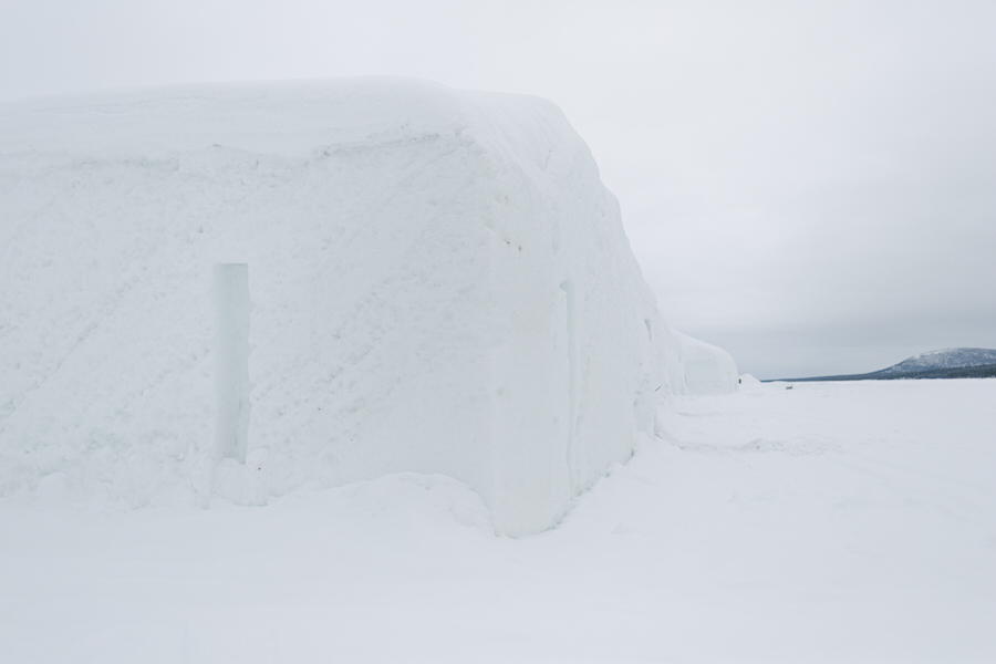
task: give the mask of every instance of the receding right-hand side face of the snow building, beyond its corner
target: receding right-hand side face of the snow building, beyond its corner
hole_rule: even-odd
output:
[[[588,147],[552,104],[506,103],[519,106],[515,131],[487,142],[500,165],[488,221],[502,330],[494,507],[500,531],[525,535],[556,525],[639,433],[653,435],[665,325]]]

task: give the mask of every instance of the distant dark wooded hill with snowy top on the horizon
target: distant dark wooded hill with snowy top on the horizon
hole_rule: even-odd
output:
[[[996,378],[996,350],[945,349],[913,355],[899,364],[867,374],[778,380],[802,383],[807,381],[894,381],[901,378]]]

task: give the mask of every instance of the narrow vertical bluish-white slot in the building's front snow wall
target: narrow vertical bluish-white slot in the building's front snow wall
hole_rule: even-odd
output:
[[[215,264],[215,458],[249,449],[249,266]]]

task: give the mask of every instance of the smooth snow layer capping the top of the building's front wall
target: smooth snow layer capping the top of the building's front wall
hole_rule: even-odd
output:
[[[200,82],[0,102],[0,154],[58,148],[117,156],[222,145],[293,157],[330,145],[465,132],[500,149],[496,127],[527,117],[570,127],[556,104],[538,96],[423,79]]]

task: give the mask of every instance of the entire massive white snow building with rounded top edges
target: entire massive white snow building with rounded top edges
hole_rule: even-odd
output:
[[[4,104],[0,200],[6,495],[261,505],[416,471],[530,533],[662,398],[736,390],[728,355],[683,364],[539,98],[360,79]],[[222,264],[248,300],[218,295]]]

